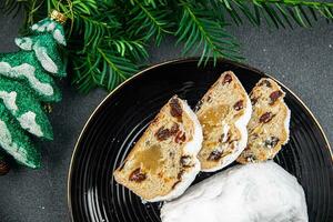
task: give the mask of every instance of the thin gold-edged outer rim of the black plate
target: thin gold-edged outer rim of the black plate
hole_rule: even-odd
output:
[[[75,145],[74,145],[74,149],[72,150],[72,154],[71,154],[71,159],[70,159],[70,164],[69,164],[69,170],[68,170],[68,174],[67,174],[67,202],[68,202],[68,210],[69,210],[69,214],[70,214],[70,220],[71,221],[74,221],[73,219],[73,212],[72,212],[72,204],[71,204],[71,195],[70,195],[70,189],[71,189],[71,175],[72,175],[72,167],[73,167],[73,160],[75,158],[75,153],[78,151],[78,145],[81,141],[81,138],[83,135],[83,133],[85,132],[85,129],[89,125],[91,119],[94,117],[94,114],[100,110],[100,108],[104,104],[104,102],[110,98],[112,97],[118,90],[120,90],[122,87],[124,87],[127,83],[129,83],[130,81],[132,81],[133,79],[140,77],[141,74],[152,70],[152,69],[155,69],[158,67],[162,67],[162,65],[167,65],[167,64],[172,64],[172,63],[176,63],[176,62],[191,62],[191,61],[199,61],[200,58],[199,57],[185,57],[185,58],[180,58],[180,59],[173,59],[173,60],[167,60],[167,61],[162,61],[162,62],[158,62],[158,63],[153,63],[151,64],[150,67],[137,72],[135,74],[133,74],[132,77],[130,77],[129,79],[127,79],[125,81],[123,81],[122,83],[120,83],[117,88],[114,88],[111,92],[109,92],[105,98],[98,104],[98,107],[93,110],[93,112],[89,115],[88,120],[85,121],[83,128],[81,129],[80,131],[80,134],[77,139],[77,142],[75,142]],[[212,59],[210,59],[210,61],[212,61]],[[329,142],[329,139],[322,128],[322,125],[320,124],[320,122],[317,121],[317,119],[315,118],[315,115],[312,113],[312,111],[310,110],[310,108],[303,102],[303,100],[297,95],[295,94],[289,87],[286,87],[285,84],[283,84],[281,81],[279,81],[278,79],[275,79],[274,77],[272,77],[271,74],[268,74],[252,65],[249,65],[249,64],[245,64],[245,63],[241,63],[241,62],[236,62],[236,61],[232,61],[232,60],[229,60],[229,59],[224,59],[224,58],[220,58],[218,59],[216,62],[228,62],[228,63],[231,63],[233,65],[236,65],[236,67],[242,67],[242,68],[245,68],[245,69],[249,69],[249,70],[252,70],[252,71],[255,71],[255,72],[259,72],[268,78],[271,78],[273,79],[274,81],[276,81],[280,85],[282,85],[284,89],[286,89],[286,91],[289,93],[291,93],[296,100],[297,102],[301,103],[301,105],[309,112],[310,117],[314,120],[316,127],[319,128],[322,137],[324,138],[324,141],[326,143],[326,147],[329,149],[329,152],[331,154],[331,160],[333,161],[333,151],[332,151],[332,148],[330,145],[330,142]]]

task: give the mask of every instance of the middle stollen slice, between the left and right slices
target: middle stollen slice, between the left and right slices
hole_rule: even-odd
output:
[[[199,153],[202,171],[220,170],[241,154],[246,147],[251,112],[250,99],[239,79],[231,71],[222,73],[196,105],[203,132]]]

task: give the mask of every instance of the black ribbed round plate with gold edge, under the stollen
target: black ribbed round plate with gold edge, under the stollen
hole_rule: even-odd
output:
[[[232,70],[248,92],[260,78],[253,68],[220,60],[198,68],[196,59],[178,60],[149,68],[114,90],[85,124],[72,155],[68,198],[75,222],[159,222],[159,203],[119,185],[112,172],[124,160],[160,108],[179,94],[194,105],[209,87]],[[333,163],[325,135],[310,110],[285,87],[291,109],[291,138],[275,161],[304,188],[310,221],[333,221]],[[201,173],[195,182],[210,176]]]

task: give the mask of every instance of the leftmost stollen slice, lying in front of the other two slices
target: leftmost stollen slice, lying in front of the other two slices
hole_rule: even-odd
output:
[[[149,202],[181,195],[200,172],[202,129],[176,95],[161,109],[113,175]]]

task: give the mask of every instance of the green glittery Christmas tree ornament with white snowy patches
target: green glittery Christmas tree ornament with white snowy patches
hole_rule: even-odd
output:
[[[0,147],[17,162],[39,168],[40,150],[31,137],[52,140],[42,102],[58,102],[61,92],[53,77],[65,77],[59,44],[65,46],[65,17],[52,11],[33,24],[29,36],[17,38],[18,52],[0,53]]]

